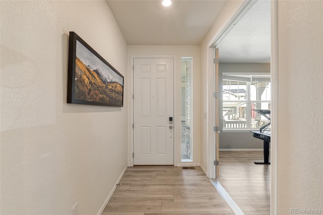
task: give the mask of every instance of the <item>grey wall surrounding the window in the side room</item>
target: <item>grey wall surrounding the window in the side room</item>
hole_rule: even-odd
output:
[[[221,50],[219,50],[221,53]],[[223,129],[223,75],[222,73],[271,73],[271,65],[265,63],[221,63],[219,64],[219,128]],[[220,149],[263,149],[263,141],[249,131],[222,131],[219,134]]]

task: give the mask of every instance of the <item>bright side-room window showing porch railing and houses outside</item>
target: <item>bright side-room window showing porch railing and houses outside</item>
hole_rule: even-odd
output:
[[[223,130],[260,128],[268,120],[252,110],[271,110],[270,74],[223,73]]]

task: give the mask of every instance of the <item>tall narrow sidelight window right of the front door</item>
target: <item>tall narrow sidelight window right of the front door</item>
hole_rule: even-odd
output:
[[[192,58],[181,59],[181,161],[192,162]]]

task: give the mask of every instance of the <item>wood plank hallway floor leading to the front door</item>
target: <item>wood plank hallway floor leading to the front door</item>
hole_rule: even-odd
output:
[[[102,215],[233,214],[200,167],[129,167]]]

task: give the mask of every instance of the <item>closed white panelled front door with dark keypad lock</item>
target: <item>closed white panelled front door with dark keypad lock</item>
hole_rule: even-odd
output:
[[[134,165],[173,165],[173,58],[134,58],[133,65]]]

